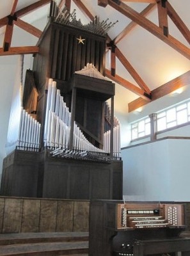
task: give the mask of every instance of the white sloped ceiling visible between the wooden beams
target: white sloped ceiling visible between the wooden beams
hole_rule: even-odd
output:
[[[29,4],[35,3],[38,0],[19,0],[17,4],[17,9],[20,10]],[[186,26],[190,28],[190,19],[189,19],[189,10],[190,10],[190,1],[189,0],[168,0],[181,17],[181,19],[185,22]],[[59,3],[59,1],[57,1]],[[127,17],[117,12],[115,9],[111,8],[111,6],[107,6],[103,8],[98,6],[98,0],[82,0],[83,4],[90,10],[92,15],[97,15],[100,17],[100,20],[105,20],[109,18],[110,22],[116,23],[115,27],[112,28],[108,35],[111,39],[114,39],[126,26],[131,22]],[[129,6],[134,8],[134,10],[141,12],[148,4],[145,3],[127,3]],[[6,0],[0,2],[0,19],[6,15],[10,14],[12,10],[13,0]],[[71,8],[75,8],[77,10],[77,17],[82,20],[85,24],[90,20],[86,18],[83,13],[81,13],[77,6],[72,3]],[[36,20],[42,19],[46,22],[47,15],[49,12],[49,4],[42,8],[39,8],[35,12],[29,13],[28,15],[22,17],[22,19],[31,24],[37,24]],[[157,9],[155,8],[147,17],[152,22],[158,25],[157,18]],[[45,24],[44,22],[44,24]],[[39,24],[39,23],[38,23]],[[42,24],[41,24],[42,26]],[[43,25],[44,26],[44,25]],[[42,29],[42,28],[40,28]],[[3,34],[5,31],[5,27],[0,29],[0,44],[3,42]],[[184,37],[180,34],[178,29],[175,27],[173,22],[169,19],[169,33],[172,36],[175,36],[180,42],[187,45],[189,44],[184,39]],[[21,42],[22,38],[20,38]],[[150,90],[154,90],[158,86],[170,81],[171,79],[184,74],[188,70],[190,70],[190,61],[179,54],[177,51],[173,50],[170,46],[166,45],[164,42],[159,40],[154,35],[150,34],[145,29],[136,26],[132,31],[125,36],[118,43],[118,48],[123,52],[127,60],[134,67],[136,72],[138,72],[139,76],[145,81]],[[2,47],[2,45],[0,45]],[[106,66],[109,67],[109,54],[107,55],[107,63]],[[131,83],[136,84],[134,79],[130,76],[127,70],[123,67],[120,61],[116,61],[116,74],[124,77]],[[137,85],[137,84],[136,84]],[[115,106],[116,111],[125,112],[127,111],[127,104],[138,98],[138,95],[130,92],[126,88],[116,84],[116,96],[115,96]]]

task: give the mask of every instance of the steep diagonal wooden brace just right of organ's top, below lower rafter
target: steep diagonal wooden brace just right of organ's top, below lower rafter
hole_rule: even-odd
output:
[[[121,63],[123,64],[123,66],[127,69],[127,71],[129,72],[129,74],[131,74],[131,76],[134,78],[134,80],[136,81],[136,83],[138,83],[139,87],[145,91],[146,93],[150,93],[150,89],[148,88],[148,86],[145,84],[145,82],[143,81],[143,79],[141,79],[141,77],[138,75],[138,73],[136,72],[136,70],[134,70],[134,68],[132,67],[132,65],[129,63],[129,61],[125,58],[125,56],[122,54],[122,52],[116,47],[115,49],[115,54],[116,57],[118,58],[118,60],[121,61]]]

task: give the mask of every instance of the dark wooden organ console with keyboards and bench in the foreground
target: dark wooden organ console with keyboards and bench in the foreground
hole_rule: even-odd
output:
[[[90,256],[190,255],[186,207],[174,202],[94,200],[90,205]]]

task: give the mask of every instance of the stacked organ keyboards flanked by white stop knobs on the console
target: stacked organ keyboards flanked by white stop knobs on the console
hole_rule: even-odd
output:
[[[117,228],[163,228],[184,225],[182,204],[117,204]]]

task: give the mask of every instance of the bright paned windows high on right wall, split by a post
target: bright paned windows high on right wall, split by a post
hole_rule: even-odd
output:
[[[157,113],[157,132],[190,122],[190,100]],[[150,135],[150,118],[131,124],[131,140]]]

